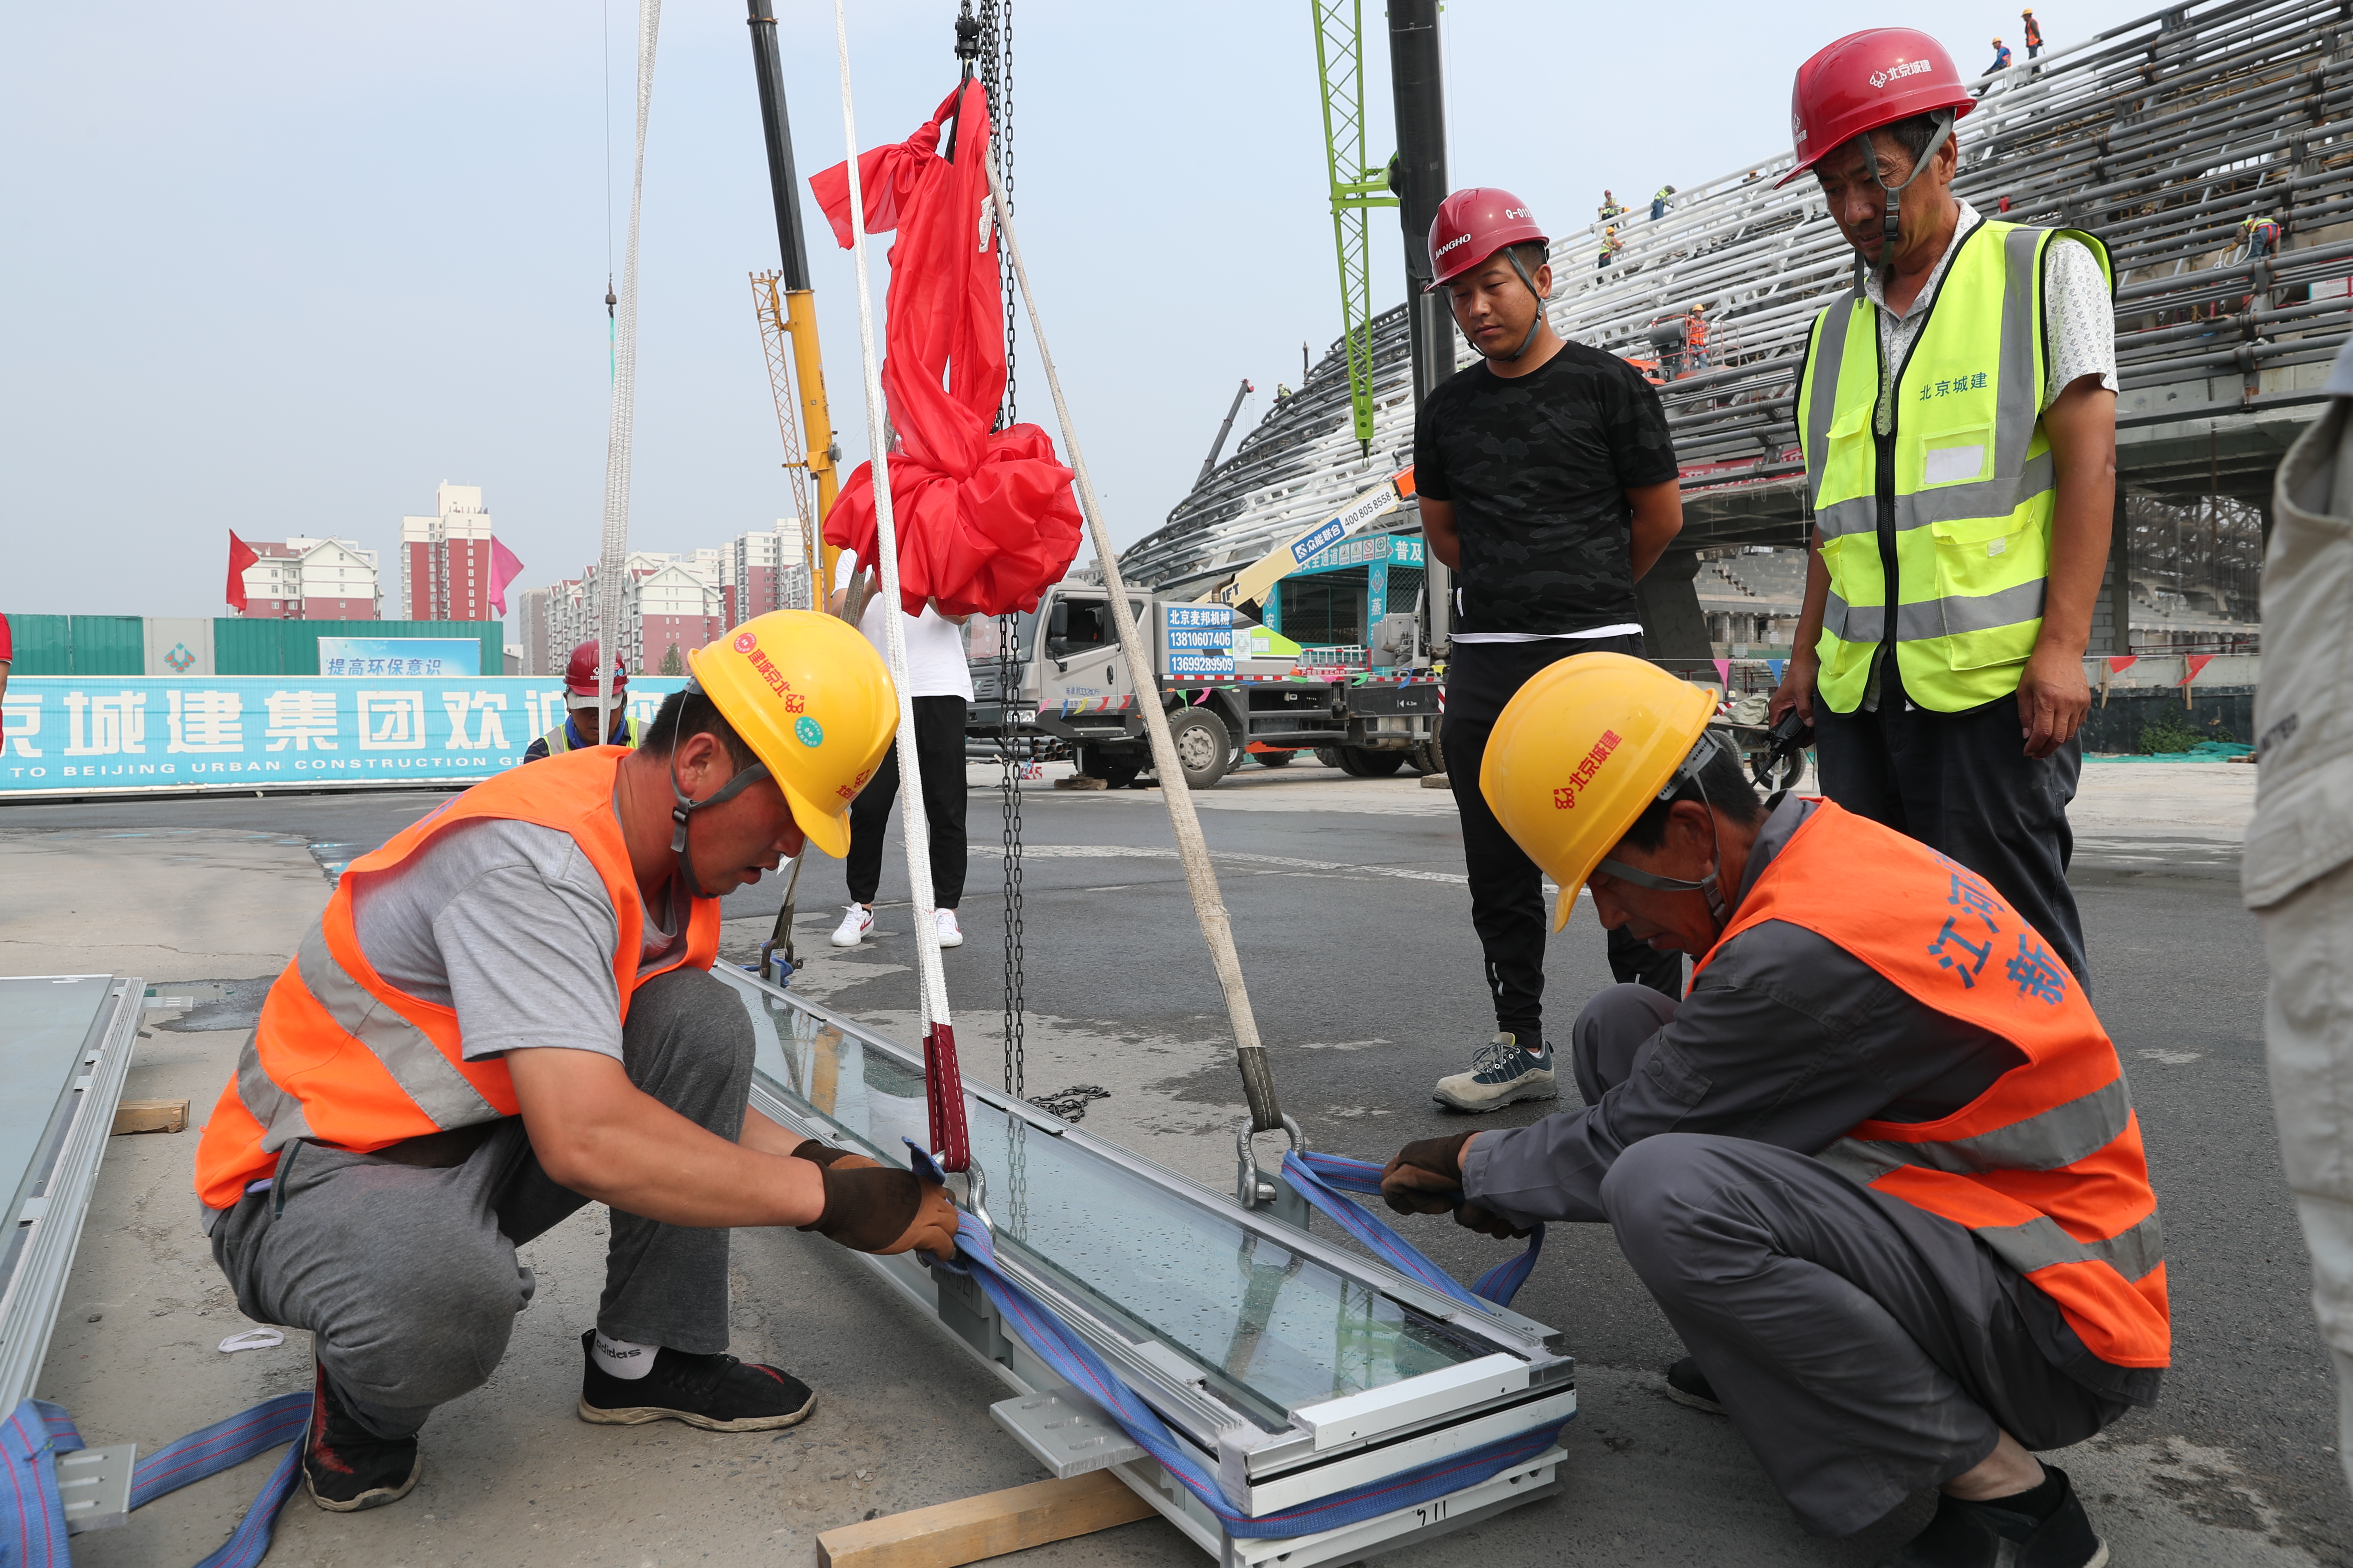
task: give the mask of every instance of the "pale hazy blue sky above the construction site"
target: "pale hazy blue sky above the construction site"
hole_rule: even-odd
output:
[[[776,0],[800,174],[845,153],[833,7]],[[2064,47],[2146,0],[2040,7]],[[955,85],[951,0],[854,0],[861,146]],[[1014,207],[1113,541],[1184,498],[1339,334],[1308,5],[1014,7]],[[1365,7],[1372,162],[1388,52]],[[1452,0],[1449,179],[1555,233],[1786,146],[1788,80],[1857,26],[1922,26],[1962,71],[2012,2],[1562,7]],[[602,527],[607,268],[628,226],[631,0],[219,0],[0,12],[0,611],[226,614],[226,531],[384,552],[480,484],[525,562],[576,576]],[[2024,59],[2024,49],[2021,49]],[[607,158],[609,110],[609,158]],[[609,230],[607,230],[609,202]],[[849,254],[805,197],[826,386],[864,461]],[[609,237],[607,237],[609,235]],[[1374,214],[1374,303],[1402,299]],[[640,252],[631,545],[720,545],[791,512],[746,275],[776,266],[744,9],[671,0]],[[880,310],[887,268],[873,254]],[[875,327],[880,341],[880,322]],[[1024,334],[1019,411],[1052,428]],[[1059,442],[1059,437],[1056,437]],[[1231,451],[1231,447],[1228,447]]]

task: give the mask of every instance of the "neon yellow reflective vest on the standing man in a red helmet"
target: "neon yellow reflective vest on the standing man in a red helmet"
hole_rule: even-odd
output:
[[[1897,665],[1920,708],[1960,712],[2017,691],[2042,632],[2057,470],[2042,430],[2042,263],[2080,230],[1979,221],[1962,235],[1913,348],[1897,367],[1892,433],[1878,437],[1878,306],[1842,299],[1814,320],[1798,433],[1831,597],[1824,701],[1854,712],[1887,637],[1880,461],[1897,564]],[[2113,287],[2113,273],[2111,273]]]

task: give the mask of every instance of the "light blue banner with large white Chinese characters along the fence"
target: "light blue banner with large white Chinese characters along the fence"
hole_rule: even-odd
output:
[[[386,661],[391,663],[391,661]],[[628,684],[652,719],[680,677]],[[0,698],[0,802],[113,790],[473,783],[565,719],[558,679],[28,675]]]

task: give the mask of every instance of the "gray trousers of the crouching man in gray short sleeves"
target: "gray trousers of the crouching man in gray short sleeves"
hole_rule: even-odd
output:
[[[744,1006],[699,969],[631,999],[628,1081],[729,1143],[744,1131],[751,1056]],[[362,1425],[412,1436],[433,1406],[489,1382],[532,1300],[515,1246],[586,1201],[539,1168],[522,1117],[449,1168],[292,1143],[271,1187],[214,1222],[212,1258],[245,1316],[313,1333]],[[595,1326],[687,1354],[727,1349],[727,1232],[612,1211]]]

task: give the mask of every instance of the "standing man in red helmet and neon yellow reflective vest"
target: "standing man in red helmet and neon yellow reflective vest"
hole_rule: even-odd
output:
[[[1986,877],[2087,980],[2066,806],[2115,512],[2106,247],[1953,197],[1972,99],[1911,28],[1798,68],[1798,167],[1857,252],[1798,386],[1814,510],[1772,717],[1821,792]]]

